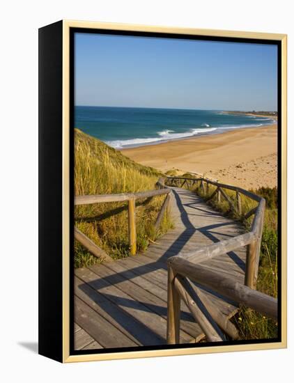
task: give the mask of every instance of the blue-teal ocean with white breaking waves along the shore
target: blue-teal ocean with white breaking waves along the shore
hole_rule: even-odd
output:
[[[224,111],[75,107],[75,127],[117,149],[272,123],[270,117]]]

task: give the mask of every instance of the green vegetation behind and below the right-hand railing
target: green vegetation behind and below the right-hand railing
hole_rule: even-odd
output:
[[[206,185],[206,184],[205,184]],[[196,186],[194,187],[196,189]],[[206,193],[206,186],[204,187],[204,193],[201,189],[197,189],[199,195],[209,200],[209,196],[214,192],[216,187],[210,185],[208,194]],[[256,190],[251,190],[255,194],[265,198],[266,209],[263,226],[263,237],[261,240],[261,256],[258,269],[257,290],[264,292],[265,294],[277,297],[277,249],[278,249],[278,237],[277,237],[277,187],[261,187]],[[235,192],[226,189],[231,200],[237,206]],[[241,196],[243,214],[249,212],[257,204],[251,199]],[[229,211],[229,203],[226,201],[218,203],[217,196],[213,197],[209,203],[214,206],[215,209],[228,214],[230,217],[240,219],[242,223],[250,228],[252,219],[245,221],[238,214]],[[241,307],[238,315],[233,318],[235,324],[240,331],[240,338],[242,339],[263,339],[263,338],[277,338],[277,322],[265,316],[256,313],[256,311]]]

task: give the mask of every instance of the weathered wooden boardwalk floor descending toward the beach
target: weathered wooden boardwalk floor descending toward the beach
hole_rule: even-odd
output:
[[[167,259],[244,233],[194,192],[172,188],[175,228],[143,254],[75,269],[75,350],[167,343]],[[245,247],[202,262],[244,283]],[[238,308],[215,292],[201,289],[228,318]],[[205,338],[181,303],[180,343]]]

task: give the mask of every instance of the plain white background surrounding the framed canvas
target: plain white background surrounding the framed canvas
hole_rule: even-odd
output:
[[[3,1],[0,45],[0,377],[2,382],[289,382],[288,350],[61,365],[38,334],[38,28],[59,19],[288,33],[288,216],[293,216],[293,1]],[[54,153],[52,153],[54,155]],[[293,219],[289,219],[291,239]],[[293,247],[288,249],[289,296]],[[54,270],[48,270],[54,272]],[[293,320],[293,306],[289,320]],[[292,371],[292,373],[291,373]],[[288,378],[287,378],[288,375]],[[293,379],[293,376],[292,376]]]

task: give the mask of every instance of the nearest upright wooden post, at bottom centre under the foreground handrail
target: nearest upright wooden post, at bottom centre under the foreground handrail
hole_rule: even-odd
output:
[[[167,269],[167,344],[180,343],[180,295],[175,287],[176,274]]]

